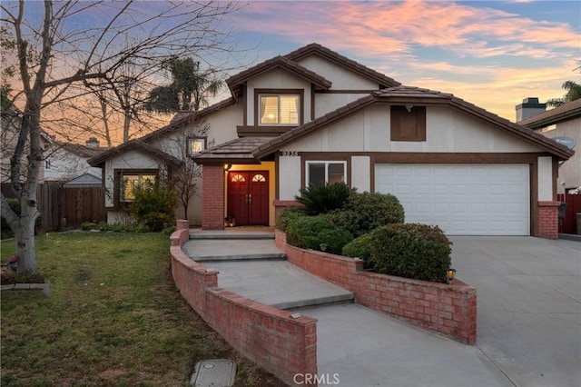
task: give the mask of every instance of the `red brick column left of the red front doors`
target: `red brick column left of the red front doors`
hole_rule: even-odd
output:
[[[224,167],[202,166],[202,230],[224,228]]]

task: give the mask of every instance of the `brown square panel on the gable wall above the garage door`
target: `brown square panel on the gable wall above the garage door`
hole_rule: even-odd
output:
[[[426,141],[426,106],[391,106],[391,141]]]

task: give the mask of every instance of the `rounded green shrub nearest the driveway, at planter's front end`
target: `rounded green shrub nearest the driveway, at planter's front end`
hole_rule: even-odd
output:
[[[438,226],[389,224],[373,233],[371,268],[377,273],[446,283],[451,244]]]

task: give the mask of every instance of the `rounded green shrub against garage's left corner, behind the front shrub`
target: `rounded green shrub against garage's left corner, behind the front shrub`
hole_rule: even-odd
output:
[[[404,210],[389,193],[352,193],[342,210],[330,213],[330,220],[359,237],[383,225],[403,223]]]

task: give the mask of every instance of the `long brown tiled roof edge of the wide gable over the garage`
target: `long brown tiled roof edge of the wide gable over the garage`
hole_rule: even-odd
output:
[[[271,141],[267,143],[259,145],[256,149],[254,149],[254,151],[252,151],[252,153],[257,158],[262,158],[268,154],[278,151],[281,146],[285,144],[290,144],[300,139],[301,137],[304,137],[305,135],[314,133],[324,126],[332,124],[340,119],[354,114],[355,112],[369,106],[370,104],[376,104],[378,102],[393,104],[406,104],[414,102],[419,104],[448,104],[468,114],[476,116],[489,124],[494,124],[500,129],[506,130],[509,133],[516,134],[517,136],[527,140],[530,143],[537,144],[538,146],[547,149],[548,152],[555,154],[563,160],[568,159],[574,154],[572,150],[568,149],[563,144],[558,144],[555,141],[548,139],[544,135],[537,134],[524,126],[511,123],[507,119],[502,118],[497,114],[487,112],[485,109],[482,109],[475,104],[470,104],[461,98],[455,97],[453,94],[446,94],[434,90],[410,86],[391,87],[359,98],[357,101],[346,104],[337,110],[320,116],[308,124],[303,124],[298,128],[292,129],[290,132],[281,134],[281,136],[271,139]]]

